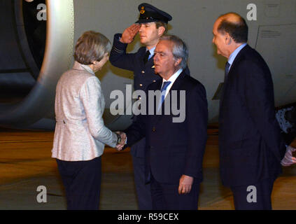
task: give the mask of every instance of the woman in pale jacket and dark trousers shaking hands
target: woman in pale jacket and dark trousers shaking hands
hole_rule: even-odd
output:
[[[110,50],[106,36],[85,32],[76,43],[73,68],[57,83],[52,158],[62,176],[67,209],[99,209],[104,146],[124,141],[104,125],[104,95],[94,75]]]

